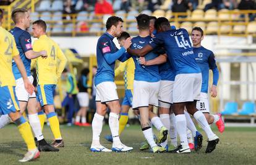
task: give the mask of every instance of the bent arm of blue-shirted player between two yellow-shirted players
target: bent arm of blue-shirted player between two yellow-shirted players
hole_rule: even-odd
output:
[[[32,44],[31,44],[31,37],[30,37],[30,34],[25,32],[23,33],[22,35],[20,35],[20,38],[19,38],[19,41],[20,41],[20,46],[23,50],[23,52],[25,53],[25,56],[28,58],[28,59],[35,59],[37,57],[47,57],[47,53],[45,50],[43,51],[33,51],[33,48],[32,48]],[[38,42],[36,42],[38,44],[38,47],[40,46]],[[36,43],[33,45],[35,46]]]

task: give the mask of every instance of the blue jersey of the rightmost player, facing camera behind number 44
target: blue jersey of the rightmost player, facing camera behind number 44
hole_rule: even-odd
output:
[[[216,69],[215,56],[212,51],[203,48],[193,48],[195,61],[202,71],[202,88],[201,92],[208,93],[209,69]]]

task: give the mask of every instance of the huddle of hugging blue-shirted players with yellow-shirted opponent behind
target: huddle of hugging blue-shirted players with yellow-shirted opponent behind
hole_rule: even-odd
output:
[[[184,28],[177,29],[169,20],[140,14],[136,17],[139,36],[130,38],[129,33],[122,32],[123,20],[109,17],[106,22],[106,33],[97,43],[96,56],[98,70],[95,75],[96,113],[93,117],[93,140],[90,150],[94,152],[125,152],[133,150],[124,145],[119,135],[124,129],[130,108],[140,117],[142,132],[147,140],[140,150],[151,148],[153,153],[169,150],[172,153],[190,153],[202,148],[203,136],[199,133],[190,114],[202,127],[208,138],[205,153],[215,150],[219,138],[211,131],[215,123],[220,132],[224,123],[220,114],[210,114],[208,103],[209,69],[213,71],[211,96],[216,97],[218,68],[214,54],[201,46],[203,30],[195,27],[192,30],[192,43]],[[116,48],[113,39],[121,49]],[[119,104],[114,71],[115,61],[124,62],[125,96],[122,108]],[[159,107],[158,117],[152,112],[153,106]],[[111,150],[100,144],[100,134],[107,108],[109,127],[112,135],[105,138],[113,142]],[[119,112],[121,117],[119,119]],[[198,110],[199,109],[199,110]],[[154,139],[151,125],[159,131]],[[171,146],[168,147],[168,132]],[[180,145],[177,145],[177,134]],[[189,138],[188,138],[189,137]],[[193,142],[194,139],[194,142]]]

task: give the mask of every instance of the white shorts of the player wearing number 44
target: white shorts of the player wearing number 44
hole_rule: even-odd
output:
[[[173,103],[200,100],[202,74],[178,74],[174,80]]]

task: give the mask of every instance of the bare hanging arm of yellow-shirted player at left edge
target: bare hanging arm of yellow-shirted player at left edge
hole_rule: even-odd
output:
[[[20,74],[22,75],[25,89],[28,91],[28,93],[30,93],[30,95],[32,95],[33,91],[35,90],[35,87],[28,80],[27,72],[25,70],[22,60],[20,59],[20,56],[14,56],[13,59],[18,69],[20,70]]]

